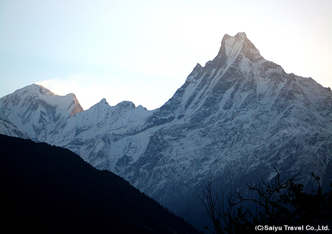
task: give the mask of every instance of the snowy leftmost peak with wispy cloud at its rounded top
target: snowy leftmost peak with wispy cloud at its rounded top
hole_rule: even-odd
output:
[[[67,118],[83,111],[74,94],[54,95],[32,84],[0,98],[0,115],[15,124],[28,137],[45,141]]]

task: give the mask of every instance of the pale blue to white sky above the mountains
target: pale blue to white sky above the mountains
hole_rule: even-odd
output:
[[[152,110],[238,32],[332,88],[331,0],[1,0],[0,97],[38,83],[84,110],[102,98]]]

